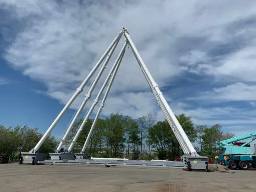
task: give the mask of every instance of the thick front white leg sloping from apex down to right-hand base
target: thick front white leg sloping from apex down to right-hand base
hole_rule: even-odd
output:
[[[185,143],[188,145],[188,149],[190,153],[194,153],[196,154],[196,150],[194,149],[192,143],[190,142],[190,140],[188,139],[188,136],[186,135],[186,133],[184,132],[183,128],[181,127],[180,123],[178,122],[176,116],[174,115],[174,113],[172,112],[170,106],[168,105],[168,103],[166,102],[166,99],[164,98],[164,96],[162,95],[162,92],[160,91],[160,89],[158,88],[158,84],[155,82],[154,78],[152,77],[152,75],[150,74],[146,64],[144,63],[144,61],[142,60],[136,46],[134,45],[134,43],[132,42],[132,39],[130,38],[130,35],[128,34],[127,30],[124,32],[124,36],[126,37],[126,39],[128,40],[131,49],[134,52],[134,55],[138,61],[138,63],[140,64],[140,66],[143,68],[143,70],[145,71],[145,73],[148,76],[148,79],[150,80],[150,82],[152,83],[154,89],[156,90],[156,93],[158,94],[158,98],[159,100],[162,102],[163,107],[166,109],[166,112],[170,115],[170,117],[172,118],[176,128],[178,129],[178,131],[180,132],[180,135],[182,136],[182,138],[184,139]],[[170,122],[169,122],[170,123]],[[172,127],[172,125],[170,125]],[[173,129],[173,127],[172,127]]]

